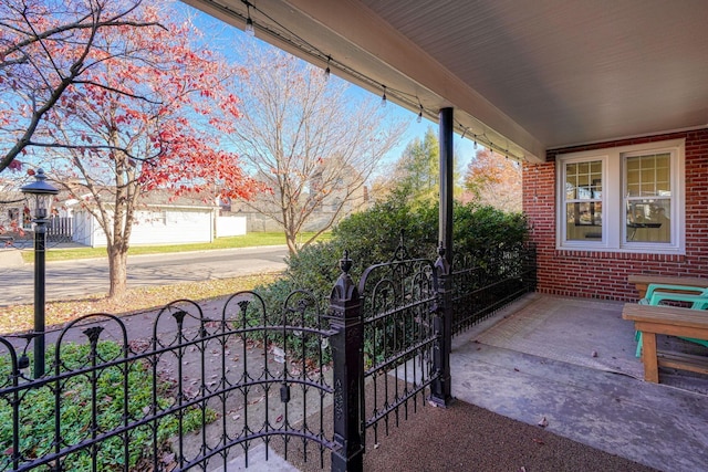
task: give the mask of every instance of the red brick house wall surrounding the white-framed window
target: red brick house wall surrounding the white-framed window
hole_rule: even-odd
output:
[[[684,137],[686,255],[555,249],[556,155]],[[546,162],[523,166],[523,210],[539,251],[539,292],[631,301],[637,293],[629,274],[708,277],[708,128],[549,151]]]

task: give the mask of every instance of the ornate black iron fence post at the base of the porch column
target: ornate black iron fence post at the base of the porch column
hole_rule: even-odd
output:
[[[438,248],[435,261],[438,277],[438,300],[435,307],[434,327],[438,339],[434,348],[433,368],[439,373],[430,386],[430,401],[447,407],[452,401],[450,376],[450,350],[452,350],[452,272],[445,258],[445,248]]]

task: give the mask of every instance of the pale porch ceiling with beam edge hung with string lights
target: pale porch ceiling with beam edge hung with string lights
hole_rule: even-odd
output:
[[[241,0],[185,0],[243,28]],[[708,124],[705,0],[252,0],[257,35],[518,157]],[[483,137],[482,137],[483,136]]]

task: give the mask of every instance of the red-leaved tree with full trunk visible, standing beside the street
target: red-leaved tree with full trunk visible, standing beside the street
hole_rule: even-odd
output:
[[[147,6],[134,14],[145,24],[158,20]],[[170,17],[162,6],[159,18]],[[65,90],[46,112],[43,140],[34,146],[51,149],[58,183],[105,233],[108,296],[117,298],[126,290],[131,232],[145,192],[198,193],[214,202],[217,195],[249,199],[259,186],[219,143],[239,116],[228,93],[239,71],[195,48],[197,31],[188,23],[123,25],[103,38],[104,48],[86,54],[93,65],[82,87]]]

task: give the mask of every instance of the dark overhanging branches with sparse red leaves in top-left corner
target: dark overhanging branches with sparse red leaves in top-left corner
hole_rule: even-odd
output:
[[[38,144],[48,112],[88,84],[100,61],[139,57],[111,38],[124,28],[160,29],[137,14],[140,1],[0,0],[0,171],[20,169],[17,158]]]

